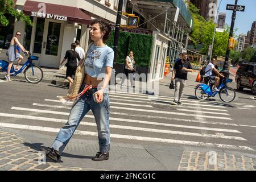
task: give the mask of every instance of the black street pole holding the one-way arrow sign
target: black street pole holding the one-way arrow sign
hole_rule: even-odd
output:
[[[237,5],[238,0],[236,0],[235,5]],[[234,22],[236,20],[236,15],[237,15],[237,10],[236,10],[236,6],[233,10],[233,14],[232,14],[232,21],[231,21],[231,26],[230,26],[230,31],[229,31],[229,38],[233,37],[233,31],[234,31]],[[225,62],[223,65],[223,70],[221,71],[222,73],[224,73],[224,75],[226,77],[229,77],[229,53],[230,53],[230,49],[229,49],[229,43],[228,43],[228,48],[226,49],[226,57],[225,57]]]

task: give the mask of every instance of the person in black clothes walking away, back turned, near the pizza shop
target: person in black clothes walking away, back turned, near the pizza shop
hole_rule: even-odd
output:
[[[65,65],[67,66],[66,77],[69,81],[69,87],[73,83],[72,77],[75,76],[75,73],[76,73],[77,60],[79,61],[81,60],[79,54],[75,51],[75,49],[76,49],[76,44],[75,43],[71,44],[71,50],[68,50],[66,52],[64,59],[60,63],[60,65],[63,65],[65,60],[68,59],[68,62]]]

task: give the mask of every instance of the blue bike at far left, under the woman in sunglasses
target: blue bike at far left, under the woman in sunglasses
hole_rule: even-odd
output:
[[[24,76],[26,80],[32,84],[37,84],[43,79],[43,71],[40,67],[34,65],[32,61],[37,61],[39,57],[37,56],[31,56],[31,53],[28,53],[28,59],[26,63],[23,64],[23,66],[16,71],[13,67],[11,67],[11,76],[17,76],[19,73],[22,73],[24,70]],[[6,72],[7,73],[7,68],[8,68],[9,62],[5,60],[0,60],[0,72]]]

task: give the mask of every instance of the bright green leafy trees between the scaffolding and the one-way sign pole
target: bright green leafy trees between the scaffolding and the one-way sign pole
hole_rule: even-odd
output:
[[[207,55],[209,45],[212,44],[213,33],[215,24],[213,20],[205,20],[203,16],[199,14],[199,9],[192,3],[189,3],[188,7],[193,18],[193,31],[191,36],[192,42],[197,47],[198,44],[202,44],[201,53]],[[216,32],[214,36],[213,45],[213,57],[225,56],[226,48],[229,40],[229,27],[226,27],[224,32]]]

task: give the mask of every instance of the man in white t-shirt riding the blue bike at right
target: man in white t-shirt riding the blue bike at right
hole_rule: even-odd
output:
[[[222,75],[220,72],[218,72],[218,70],[214,67],[214,65],[216,64],[216,59],[212,58],[212,60],[210,61],[210,63],[207,65],[206,69],[205,69],[205,75],[203,76],[204,78],[209,78],[210,80],[215,81],[214,83],[214,91],[220,91],[217,89],[218,85],[220,84],[220,77],[224,78],[225,76]],[[216,73],[215,75],[218,76],[214,76],[213,72]]]

